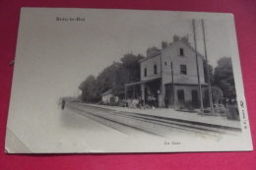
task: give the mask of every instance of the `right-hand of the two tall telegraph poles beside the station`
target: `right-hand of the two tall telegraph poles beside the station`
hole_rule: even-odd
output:
[[[208,88],[209,88],[209,100],[210,100],[210,106],[211,106],[211,114],[214,115],[214,104],[213,104],[213,96],[212,96],[212,87],[210,83],[210,72],[209,72],[209,66],[208,66],[208,56],[207,56],[207,50],[206,50],[206,35],[205,35],[205,25],[204,20],[202,19],[202,28],[203,28],[203,35],[204,35],[204,46],[205,46],[205,57],[206,57],[206,67],[207,67],[207,74],[208,74]]]

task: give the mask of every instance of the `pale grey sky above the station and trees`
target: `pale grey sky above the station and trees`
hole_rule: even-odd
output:
[[[23,33],[21,39],[28,49],[25,53],[31,56],[28,59],[33,61],[33,66],[37,65],[33,74],[38,72],[45,79],[58,80],[58,84],[63,86],[63,95],[77,95],[78,86],[88,76],[97,76],[113,62],[120,62],[124,54],[132,52],[146,56],[149,47],[160,48],[162,40],[170,43],[175,34],[188,34],[189,42],[194,46],[193,18],[196,19],[198,51],[205,53],[201,26],[205,15],[68,9],[32,13],[22,17],[23,29],[19,34]],[[85,21],[55,21],[56,17],[80,17]],[[218,19],[205,19],[208,58],[214,67],[218,59],[230,56],[225,22],[220,16]]]

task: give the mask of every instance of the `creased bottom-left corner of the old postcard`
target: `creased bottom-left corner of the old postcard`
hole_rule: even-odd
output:
[[[31,149],[22,142],[9,128],[6,129],[5,153],[32,153]]]

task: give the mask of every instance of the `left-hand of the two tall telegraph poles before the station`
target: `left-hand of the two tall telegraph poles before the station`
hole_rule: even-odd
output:
[[[197,65],[197,80],[198,80],[199,95],[200,95],[200,107],[201,107],[202,116],[204,116],[203,96],[202,96],[202,88],[201,88],[199,68],[198,68],[198,55],[197,55],[197,40],[196,40],[195,19],[193,19],[192,25],[193,25],[194,42],[195,42],[195,54],[196,54],[196,65]]]

